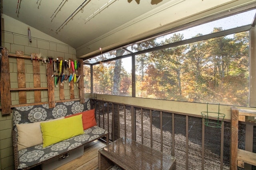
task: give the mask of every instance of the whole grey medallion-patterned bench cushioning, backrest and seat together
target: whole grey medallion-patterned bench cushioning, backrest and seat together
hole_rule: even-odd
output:
[[[66,115],[72,115],[80,113],[90,109],[90,99],[85,99],[84,104],[79,101],[60,102],[56,103],[54,108],[49,108],[48,104],[34,105],[34,106],[22,106],[14,107],[13,111],[13,129],[16,132],[16,124],[22,123],[34,123],[39,121],[46,121],[56,119]],[[48,147],[43,148],[43,145],[36,145],[18,151],[18,169],[27,168],[35,164],[44,162],[54,156],[68,152],[81,145],[84,145],[90,141],[94,141],[104,135],[108,134],[108,131],[101,127],[94,126],[84,130],[84,134],[72,137],[70,139],[55,143]],[[14,149],[15,150],[15,149]]]

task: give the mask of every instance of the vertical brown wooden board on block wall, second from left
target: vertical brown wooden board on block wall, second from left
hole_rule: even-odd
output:
[[[24,56],[23,51],[16,51],[17,56]],[[25,61],[23,58],[17,58],[17,76],[18,88],[26,88],[26,72]],[[25,91],[19,91],[19,104],[27,103],[27,95]]]

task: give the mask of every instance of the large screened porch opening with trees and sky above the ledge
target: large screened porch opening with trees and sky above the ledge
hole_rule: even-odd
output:
[[[255,13],[185,25],[88,59],[93,93],[248,106],[249,30]]]

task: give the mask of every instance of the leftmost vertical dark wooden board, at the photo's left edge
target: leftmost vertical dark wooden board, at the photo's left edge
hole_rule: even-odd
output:
[[[2,115],[10,114],[11,111],[11,94],[10,94],[10,65],[8,50],[2,49],[2,66],[1,66],[1,105]]]

